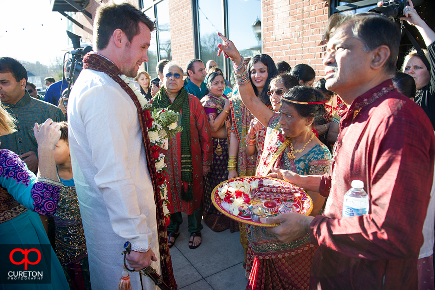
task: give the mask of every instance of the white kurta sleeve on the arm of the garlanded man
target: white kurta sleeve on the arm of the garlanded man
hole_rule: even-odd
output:
[[[133,157],[143,157],[146,162],[143,143],[142,146],[137,144],[136,151],[141,153],[128,150],[132,135],[136,142],[143,140],[137,135],[141,132],[137,127],[136,107],[113,86],[100,85],[81,95],[77,109],[89,142],[90,161],[95,167],[92,170],[96,172],[94,181],[102,194],[112,228],[117,235],[131,242],[133,250],[146,252],[152,234],[146,213],[139,207],[144,197],[138,194],[144,185],[135,184],[128,166]]]

